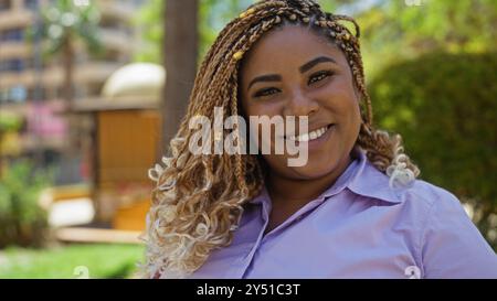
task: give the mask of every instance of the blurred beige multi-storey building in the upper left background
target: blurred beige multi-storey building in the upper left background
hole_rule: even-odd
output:
[[[40,43],[27,42],[42,6],[52,0],[0,0],[0,111],[23,119],[18,139],[20,148],[0,153],[2,161],[19,157],[42,158],[57,166],[56,184],[86,182],[91,158],[84,137],[81,151],[67,151],[67,122],[63,107],[63,67],[54,57],[42,58]],[[131,60],[136,41],[133,17],[142,0],[98,0],[101,36],[105,49],[94,57],[83,45],[76,45],[74,66],[75,103],[98,98],[105,80]],[[92,120],[82,116],[83,135],[92,131]],[[12,140],[12,139],[11,139]],[[0,144],[2,141],[0,141]],[[3,141],[4,143],[4,141]],[[6,151],[7,150],[7,151]]]

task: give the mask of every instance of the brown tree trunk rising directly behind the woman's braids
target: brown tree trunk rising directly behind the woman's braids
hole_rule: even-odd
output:
[[[198,0],[167,0],[163,63],[167,73],[162,101],[161,153],[179,129],[197,74]]]

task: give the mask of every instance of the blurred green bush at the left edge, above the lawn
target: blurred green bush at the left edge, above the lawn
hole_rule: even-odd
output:
[[[19,161],[7,169],[0,180],[0,248],[44,243],[46,212],[38,201],[51,178],[50,172],[33,171],[28,161]]]

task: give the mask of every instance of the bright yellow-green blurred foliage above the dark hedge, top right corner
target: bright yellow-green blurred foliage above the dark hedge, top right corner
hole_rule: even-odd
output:
[[[483,53],[497,49],[497,1],[383,0],[356,15],[369,77],[385,66],[430,52]]]

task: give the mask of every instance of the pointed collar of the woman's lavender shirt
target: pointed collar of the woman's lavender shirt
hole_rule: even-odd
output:
[[[335,184],[321,193],[317,200],[326,200],[345,189],[349,189],[351,192],[362,196],[378,198],[390,203],[401,202],[394,191],[390,187],[388,175],[379,171],[369,162],[363,150],[355,148],[352,158],[352,162],[338,178]],[[261,193],[248,201],[248,203],[261,204],[266,201],[269,201],[269,194],[266,186],[263,185]]]

